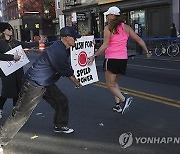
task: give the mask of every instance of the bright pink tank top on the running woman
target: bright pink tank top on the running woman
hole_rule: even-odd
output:
[[[117,27],[118,34],[112,34],[109,45],[105,50],[107,59],[127,59],[127,40],[129,34],[124,30],[124,23]]]

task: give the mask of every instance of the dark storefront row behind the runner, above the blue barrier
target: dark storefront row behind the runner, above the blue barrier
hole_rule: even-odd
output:
[[[180,29],[179,3],[179,0],[64,0],[63,13],[66,25],[75,23],[82,35],[102,37],[106,21],[103,12],[117,6],[127,24],[134,29],[137,24],[141,26],[142,37],[169,37],[172,22]]]

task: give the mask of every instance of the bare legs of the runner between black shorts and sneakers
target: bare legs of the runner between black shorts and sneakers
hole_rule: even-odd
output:
[[[112,72],[107,70],[105,71],[105,78],[106,78],[106,85],[114,95],[116,102],[117,103],[119,103],[119,101],[123,102],[125,100],[125,97],[122,95],[119,89],[119,85],[118,85],[119,75],[113,74]]]

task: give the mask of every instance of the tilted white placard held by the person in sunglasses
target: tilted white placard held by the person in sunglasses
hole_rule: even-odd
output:
[[[6,52],[5,54],[11,54],[11,55],[18,54],[19,56],[21,56],[21,59],[19,61],[0,61],[0,68],[2,69],[2,71],[6,76],[8,76],[9,74],[15,72],[19,68],[29,63],[29,59],[26,56],[21,45],[13,48],[12,50]]]

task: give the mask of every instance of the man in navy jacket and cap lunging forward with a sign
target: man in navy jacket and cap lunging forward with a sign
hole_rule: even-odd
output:
[[[68,77],[77,88],[81,87],[73,75],[69,63],[69,48],[75,45],[80,35],[73,27],[64,27],[60,31],[61,39],[55,41],[40,55],[25,74],[19,99],[12,114],[5,121],[0,132],[0,144],[6,145],[20,130],[32,111],[43,98],[55,110],[54,131],[72,133],[68,128],[68,99],[55,85],[61,76]]]

